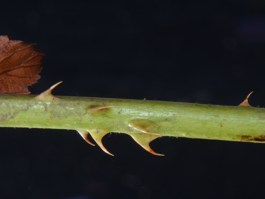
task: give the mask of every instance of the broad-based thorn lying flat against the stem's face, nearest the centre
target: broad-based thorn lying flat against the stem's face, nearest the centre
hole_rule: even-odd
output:
[[[148,131],[147,128],[153,127],[154,123],[147,119],[134,119],[128,122],[128,126],[132,127],[135,130],[142,131],[151,135],[160,135],[158,133],[153,133]]]

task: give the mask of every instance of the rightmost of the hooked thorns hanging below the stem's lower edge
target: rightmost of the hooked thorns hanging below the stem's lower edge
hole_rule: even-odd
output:
[[[162,155],[159,153],[154,152],[150,146],[149,143],[153,141],[154,139],[160,137],[160,136],[153,136],[149,134],[130,134],[130,136],[140,145],[142,146],[145,150],[147,150],[149,153],[152,153],[154,155]]]

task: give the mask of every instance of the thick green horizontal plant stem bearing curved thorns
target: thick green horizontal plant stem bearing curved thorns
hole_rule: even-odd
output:
[[[126,133],[147,150],[147,144],[159,136],[265,141],[265,109],[256,107],[55,97],[48,93],[44,98],[0,95],[0,113],[0,127],[89,131],[97,143],[108,132]]]

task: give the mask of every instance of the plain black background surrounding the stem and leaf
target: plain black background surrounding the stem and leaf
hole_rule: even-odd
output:
[[[265,104],[264,1],[1,2],[0,35],[46,55],[39,94],[236,106]],[[91,139],[90,139],[91,140]],[[0,198],[250,198],[264,144],[1,128]]]

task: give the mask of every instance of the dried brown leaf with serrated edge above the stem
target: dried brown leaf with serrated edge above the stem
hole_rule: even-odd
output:
[[[44,55],[33,49],[35,44],[9,40],[0,36],[0,93],[29,94],[28,86],[37,83],[41,76]]]

